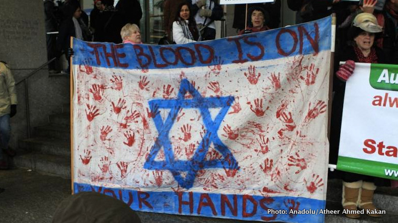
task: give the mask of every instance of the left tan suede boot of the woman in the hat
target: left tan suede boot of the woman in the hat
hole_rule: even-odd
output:
[[[359,194],[361,187],[362,187],[362,180],[352,183],[347,183],[343,181],[342,205],[344,211],[346,212],[346,217],[349,218],[361,217],[359,213],[356,213],[356,211],[358,210],[357,204],[359,201]]]

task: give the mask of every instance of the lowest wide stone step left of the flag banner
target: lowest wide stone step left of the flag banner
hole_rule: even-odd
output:
[[[15,156],[13,165],[70,178],[70,157],[67,156],[32,152]]]

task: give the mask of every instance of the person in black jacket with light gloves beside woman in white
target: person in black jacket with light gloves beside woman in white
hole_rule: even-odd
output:
[[[191,14],[196,24],[202,30],[202,40],[215,39],[214,21],[224,16],[223,8],[213,0],[190,0]]]

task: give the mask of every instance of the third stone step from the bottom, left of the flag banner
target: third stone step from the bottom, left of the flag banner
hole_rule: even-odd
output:
[[[62,125],[46,125],[34,127],[34,136],[57,138],[65,141],[70,141],[70,127]]]

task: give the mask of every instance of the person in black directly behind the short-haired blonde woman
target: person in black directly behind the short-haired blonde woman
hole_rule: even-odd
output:
[[[122,26],[128,23],[140,26],[140,20],[143,17],[140,2],[137,0],[119,0],[115,8],[123,19]]]

